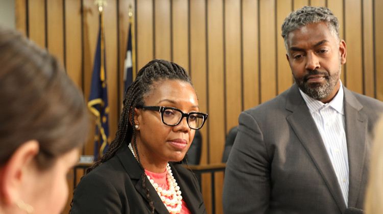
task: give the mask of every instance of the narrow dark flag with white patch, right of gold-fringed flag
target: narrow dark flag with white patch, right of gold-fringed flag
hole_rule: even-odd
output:
[[[133,48],[132,48],[132,24],[129,26],[128,45],[124,62],[124,94],[128,87],[133,83]]]

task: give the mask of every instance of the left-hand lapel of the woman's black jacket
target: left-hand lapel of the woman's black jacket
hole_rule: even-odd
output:
[[[128,173],[132,182],[136,182],[134,188],[149,204],[150,201],[147,197],[146,190],[142,187],[142,170],[139,167],[138,162],[136,161],[132,152],[129,150],[128,146],[124,144],[122,148],[117,151],[116,155],[122,162],[122,165],[124,166],[125,171]],[[163,202],[159,198],[157,191],[154,189],[153,185],[149,182],[148,179],[145,179],[145,186],[149,189],[150,198],[153,201],[153,205],[155,207],[155,213],[168,213],[169,211],[167,211]],[[151,207],[148,207],[151,210]]]

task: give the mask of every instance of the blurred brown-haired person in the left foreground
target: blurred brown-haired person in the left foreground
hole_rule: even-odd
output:
[[[0,213],[61,213],[88,122],[58,61],[0,26]]]

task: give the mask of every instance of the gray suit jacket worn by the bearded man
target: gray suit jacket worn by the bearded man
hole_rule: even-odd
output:
[[[348,207],[363,208],[371,131],[383,103],[344,89]],[[346,204],[315,121],[294,84],[241,113],[226,165],[224,213],[342,213]]]

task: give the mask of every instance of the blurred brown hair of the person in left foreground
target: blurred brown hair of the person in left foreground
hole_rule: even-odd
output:
[[[80,90],[56,58],[0,26],[0,166],[28,140],[40,169],[85,143],[89,117]]]

